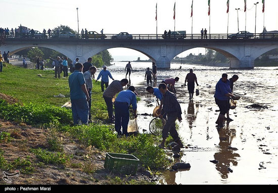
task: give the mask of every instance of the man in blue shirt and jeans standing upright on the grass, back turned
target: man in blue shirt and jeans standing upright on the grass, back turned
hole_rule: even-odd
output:
[[[88,124],[90,100],[89,94],[85,86],[85,80],[81,73],[83,65],[75,64],[75,71],[69,76],[70,101],[73,116],[73,123],[78,124],[80,119],[82,124]]]

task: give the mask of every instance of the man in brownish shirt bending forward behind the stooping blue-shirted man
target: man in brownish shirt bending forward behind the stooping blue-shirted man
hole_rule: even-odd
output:
[[[113,102],[112,99],[115,95],[121,91],[123,91],[123,87],[128,84],[127,79],[122,79],[121,81],[114,80],[112,83],[105,89],[103,92],[103,98],[107,105],[107,111],[110,121],[113,123],[115,121],[115,117],[113,115]]]

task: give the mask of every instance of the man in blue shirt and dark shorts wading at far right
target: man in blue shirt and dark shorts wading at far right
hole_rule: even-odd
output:
[[[230,82],[227,78],[227,74],[222,74],[222,78],[218,81],[215,87],[215,103],[218,105],[220,110],[219,116],[215,123],[219,128],[223,127],[225,114],[229,110],[229,97],[233,99],[237,98],[235,95],[231,94]]]

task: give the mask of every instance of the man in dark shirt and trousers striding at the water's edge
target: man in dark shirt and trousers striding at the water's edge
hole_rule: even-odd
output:
[[[158,89],[163,95],[163,107],[160,114],[160,118],[163,118],[163,114],[167,113],[167,120],[162,129],[162,142],[159,145],[160,148],[164,148],[166,138],[168,134],[172,136],[174,141],[177,143],[176,147],[183,148],[183,144],[178,137],[178,133],[175,127],[175,121],[178,119],[181,122],[181,108],[177,101],[176,95],[168,91],[166,84],[161,83],[158,86]]]

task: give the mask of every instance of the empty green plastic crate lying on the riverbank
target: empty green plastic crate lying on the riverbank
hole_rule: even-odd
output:
[[[129,154],[106,153],[104,168],[115,173],[136,174],[139,160]]]

